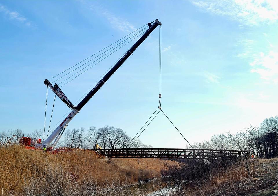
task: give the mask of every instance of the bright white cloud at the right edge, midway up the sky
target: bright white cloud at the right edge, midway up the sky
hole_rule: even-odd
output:
[[[278,82],[278,52],[269,51],[268,55],[261,52],[250,65],[253,67],[251,73],[260,74],[266,81]]]

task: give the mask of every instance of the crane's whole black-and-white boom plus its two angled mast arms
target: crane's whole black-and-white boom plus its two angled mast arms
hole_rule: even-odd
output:
[[[61,90],[61,88],[55,84],[54,86],[50,83],[49,80],[45,79],[44,83],[48,86],[55,94],[58,96],[70,109],[70,113],[65,117],[65,119],[58,125],[58,127],[52,132],[52,134],[42,143],[34,144],[36,148],[47,148],[47,150],[52,150],[55,148],[59,139],[63,135],[69,122],[79,113],[79,111],[85,106],[85,104],[96,94],[96,92],[106,83],[106,81],[116,72],[116,70],[132,55],[132,53],[138,48],[138,46],[151,34],[151,32],[157,27],[161,26],[161,22],[157,19],[148,23],[149,29],[131,46],[131,48],[118,60],[118,62],[105,74],[105,76],[100,79],[100,81],[94,86],[92,90],[81,100],[81,102],[74,106],[70,102],[69,98]]]

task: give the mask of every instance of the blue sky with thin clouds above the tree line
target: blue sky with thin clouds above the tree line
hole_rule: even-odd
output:
[[[162,22],[162,109],[189,142],[277,115],[276,1],[0,2],[0,131],[43,129],[45,78],[142,25]],[[68,128],[106,124],[136,134],[158,105],[158,28]],[[76,102],[128,49],[63,86]],[[47,124],[54,93],[49,92]],[[51,128],[67,112],[57,100]],[[186,143],[159,114],[140,136],[153,147]]]

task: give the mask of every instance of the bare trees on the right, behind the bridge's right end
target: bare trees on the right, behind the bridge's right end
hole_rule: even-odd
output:
[[[250,125],[235,134],[226,132],[213,135],[209,141],[196,142],[192,146],[199,149],[248,151],[257,158],[278,157],[278,117],[266,118],[259,126]]]

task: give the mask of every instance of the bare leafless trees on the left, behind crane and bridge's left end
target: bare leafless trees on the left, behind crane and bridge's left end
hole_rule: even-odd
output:
[[[20,129],[0,132],[0,144],[19,144],[22,136],[24,136],[24,132]],[[41,129],[27,134],[25,137],[41,138],[42,141],[43,138],[47,139],[47,135],[43,135]],[[91,126],[87,131],[83,127],[67,129],[63,134],[63,139],[58,142],[56,147],[95,149],[97,144],[102,148],[112,149],[152,148],[152,146],[145,145],[138,139],[136,141],[132,140],[121,128],[108,125],[98,129]]]

